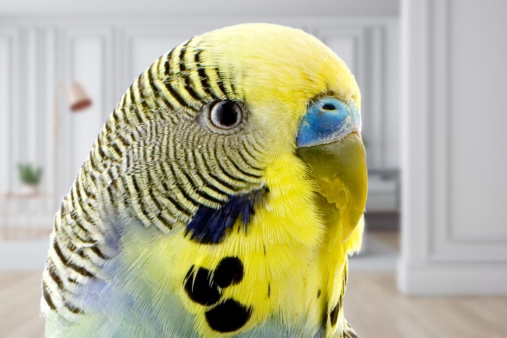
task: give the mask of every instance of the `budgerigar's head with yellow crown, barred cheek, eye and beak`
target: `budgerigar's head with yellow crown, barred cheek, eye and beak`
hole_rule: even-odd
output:
[[[363,213],[359,88],[302,30],[243,24],[195,36],[144,71],[118,109],[127,186],[146,224],[187,225],[201,206],[220,209],[301,167],[329,203],[352,205],[342,217],[355,224]]]

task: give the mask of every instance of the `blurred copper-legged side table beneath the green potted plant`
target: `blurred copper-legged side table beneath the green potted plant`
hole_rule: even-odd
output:
[[[33,201],[39,201],[39,208],[45,209],[48,201],[53,201],[53,194],[41,193],[7,193],[0,195],[2,202],[2,227],[0,227],[0,238],[3,240],[26,240],[46,237],[51,233],[52,215],[44,213],[30,213]],[[12,212],[13,205],[15,213]],[[20,207],[23,211],[19,211]],[[22,218],[22,221],[14,219]]]

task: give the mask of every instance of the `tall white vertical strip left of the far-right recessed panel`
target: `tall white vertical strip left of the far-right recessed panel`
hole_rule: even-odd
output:
[[[428,256],[427,1],[402,2],[402,256],[422,265]],[[416,66],[417,65],[417,66]]]

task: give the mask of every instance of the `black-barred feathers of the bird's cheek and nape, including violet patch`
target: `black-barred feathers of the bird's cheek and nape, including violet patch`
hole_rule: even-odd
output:
[[[68,321],[86,313],[75,293],[103,279],[101,268],[117,253],[115,220],[136,219],[163,233],[186,227],[208,244],[219,243],[238,217],[248,224],[266,192],[264,136],[248,127],[246,108],[234,128],[209,124],[215,102],[239,107],[244,97],[198,41],[142,72],[102,127],[56,213],[43,313]]]

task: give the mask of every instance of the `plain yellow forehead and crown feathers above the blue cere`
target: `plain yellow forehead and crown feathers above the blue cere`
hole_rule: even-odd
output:
[[[284,107],[284,114],[299,118],[309,99],[329,93],[359,107],[359,89],[345,63],[300,29],[242,24],[205,33],[193,45],[203,49],[203,65],[218,65],[252,109]]]

